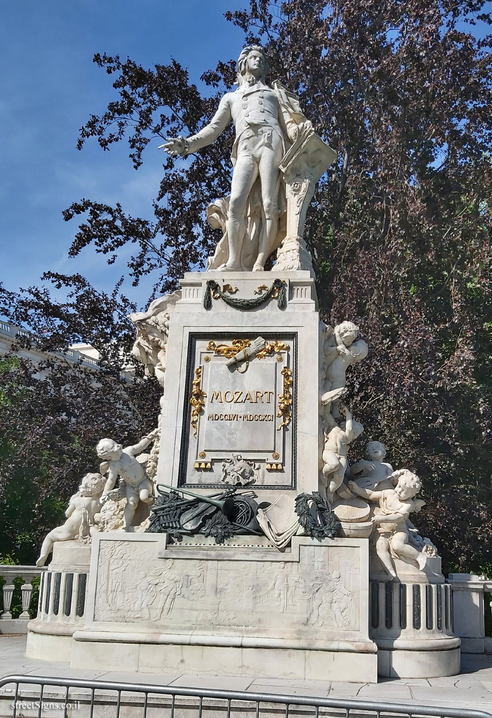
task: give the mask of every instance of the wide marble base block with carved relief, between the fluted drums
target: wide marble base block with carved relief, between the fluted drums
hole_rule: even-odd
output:
[[[364,539],[96,534],[71,666],[376,681],[368,579]]]

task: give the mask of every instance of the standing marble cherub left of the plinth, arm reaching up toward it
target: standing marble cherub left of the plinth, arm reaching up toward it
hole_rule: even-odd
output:
[[[114,491],[116,479],[120,477],[120,490],[126,495],[126,506],[123,513],[123,531],[128,531],[131,521],[138,506],[138,500],[143,503],[153,503],[153,485],[151,479],[146,473],[145,466],[141,461],[136,459],[135,454],[139,454],[156,439],[159,434],[158,429],[143,437],[138,444],[131,447],[123,447],[117,444],[113,439],[101,439],[96,447],[98,457],[103,460],[101,464],[101,473],[108,473],[101,501],[104,503],[112,498],[111,493]],[[148,458],[141,457],[141,458]]]

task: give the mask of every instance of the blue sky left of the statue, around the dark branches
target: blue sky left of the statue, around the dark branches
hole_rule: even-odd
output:
[[[239,29],[224,19],[246,0],[4,0],[0,9],[0,281],[7,289],[39,284],[43,271],[80,272],[112,289],[124,262],[108,266],[87,248],[69,259],[77,220],[62,210],[82,197],[151,218],[159,188],[159,141],[146,148],[136,171],[128,145],[103,152],[96,141],[76,149],[91,113],[103,113],[115,93],[110,76],[93,64],[95,52],[128,55],[143,66],[174,57],[198,82],[218,60],[237,57]],[[122,257],[123,260],[123,257]],[[150,283],[151,280],[149,280]],[[126,293],[146,301],[150,289]]]

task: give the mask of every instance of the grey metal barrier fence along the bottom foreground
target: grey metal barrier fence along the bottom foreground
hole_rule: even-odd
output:
[[[0,679],[0,699],[5,696],[4,686],[14,684],[15,688],[9,691],[9,698],[12,698],[11,706],[11,718],[21,718],[21,716],[27,715],[26,709],[22,707],[22,691],[19,686],[39,686],[39,694],[34,697],[34,701],[29,703],[29,708],[32,708],[32,704],[37,708],[37,716],[41,718],[42,714],[46,714],[47,705],[58,706],[58,710],[63,709],[63,718],[67,718],[67,714],[70,710],[72,715],[72,708],[70,707],[70,689],[89,689],[90,694],[82,694],[77,699],[78,708],[84,707],[85,712],[80,715],[88,714],[89,718],[93,718],[95,707],[105,704],[108,706],[108,697],[105,699],[96,696],[95,691],[114,691],[115,692],[115,711],[107,709],[104,711],[104,715],[114,715],[114,718],[120,718],[123,704],[125,704],[130,696],[125,698],[124,694],[142,694],[142,700],[140,703],[133,703],[132,715],[141,716],[141,718],[147,718],[148,712],[152,708],[152,699],[149,696],[161,696],[165,698],[169,697],[169,702],[166,704],[159,704],[159,716],[163,714],[163,709],[169,710],[169,718],[178,718],[180,709],[183,709],[186,718],[189,718],[191,714],[194,714],[196,709],[197,718],[203,718],[204,713],[209,715],[216,715],[220,712],[224,714],[224,717],[231,718],[231,713],[241,712],[243,714],[249,713],[254,714],[255,718],[260,718],[260,714],[266,711],[264,705],[261,709],[262,704],[270,704],[268,709],[269,713],[279,714],[280,711],[284,714],[285,718],[289,718],[289,713],[295,712],[296,709],[312,709],[311,711],[303,710],[302,714],[313,715],[318,718],[320,709],[323,709],[323,714],[335,713],[336,715],[342,715],[344,718],[355,718],[361,714],[369,714],[369,716],[375,716],[381,718],[382,715],[394,715],[394,716],[407,716],[408,718],[417,718],[417,716],[435,716],[437,718],[491,718],[490,713],[484,711],[477,711],[474,709],[460,709],[460,708],[445,708],[445,707],[432,707],[423,706],[420,704],[402,704],[402,703],[382,703],[380,701],[359,701],[344,698],[318,698],[308,696],[289,696],[283,694],[270,694],[270,693],[252,693],[250,691],[223,691],[219,689],[202,689],[202,688],[184,688],[181,686],[154,686],[150,684],[139,684],[139,683],[117,683],[114,681],[82,681],[77,679],[62,679],[62,678],[45,678],[43,676],[6,676],[4,679]],[[60,698],[54,696],[47,696],[45,689],[47,686],[58,686],[64,688],[65,691]],[[135,696],[133,696],[134,699]],[[176,704],[176,698],[195,698],[198,699],[197,704],[190,707],[189,704],[181,705]],[[214,699],[223,701],[219,706],[214,705],[211,707],[209,704],[204,704],[204,699]],[[73,699],[72,699],[73,700]],[[156,699],[154,698],[155,702]],[[233,704],[233,701],[235,704]],[[155,712],[153,710],[152,712]],[[128,716],[128,709],[125,710],[125,714]]]

